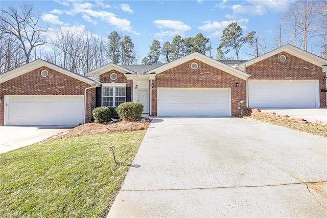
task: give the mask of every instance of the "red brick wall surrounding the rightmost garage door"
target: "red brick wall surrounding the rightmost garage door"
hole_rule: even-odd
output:
[[[285,55],[285,62],[279,61],[279,55]],[[282,52],[246,67],[250,79],[315,79],[319,80],[320,107],[326,106],[326,92],[322,81],[322,68],[291,54]]]

